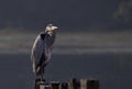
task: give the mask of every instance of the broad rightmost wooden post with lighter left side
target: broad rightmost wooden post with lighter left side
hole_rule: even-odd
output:
[[[80,89],[99,89],[99,80],[80,79]]]

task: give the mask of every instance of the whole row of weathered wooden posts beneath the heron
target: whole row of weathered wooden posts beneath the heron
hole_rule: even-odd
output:
[[[69,82],[51,81],[36,81],[35,89],[99,89],[98,79],[76,79],[73,78]]]

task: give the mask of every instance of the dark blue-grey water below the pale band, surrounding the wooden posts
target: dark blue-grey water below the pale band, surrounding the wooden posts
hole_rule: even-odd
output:
[[[33,89],[30,55],[0,55],[0,89]],[[53,55],[47,81],[97,78],[100,89],[132,89],[131,54]]]

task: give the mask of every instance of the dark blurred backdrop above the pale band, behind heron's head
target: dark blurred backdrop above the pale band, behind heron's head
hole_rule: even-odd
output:
[[[0,29],[121,31],[132,27],[132,0],[0,0]]]

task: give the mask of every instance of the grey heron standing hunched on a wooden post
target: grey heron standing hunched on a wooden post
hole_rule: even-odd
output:
[[[57,26],[48,24],[44,32],[41,32],[32,47],[31,59],[33,73],[43,79],[45,66],[51,59],[52,47],[56,38]]]

